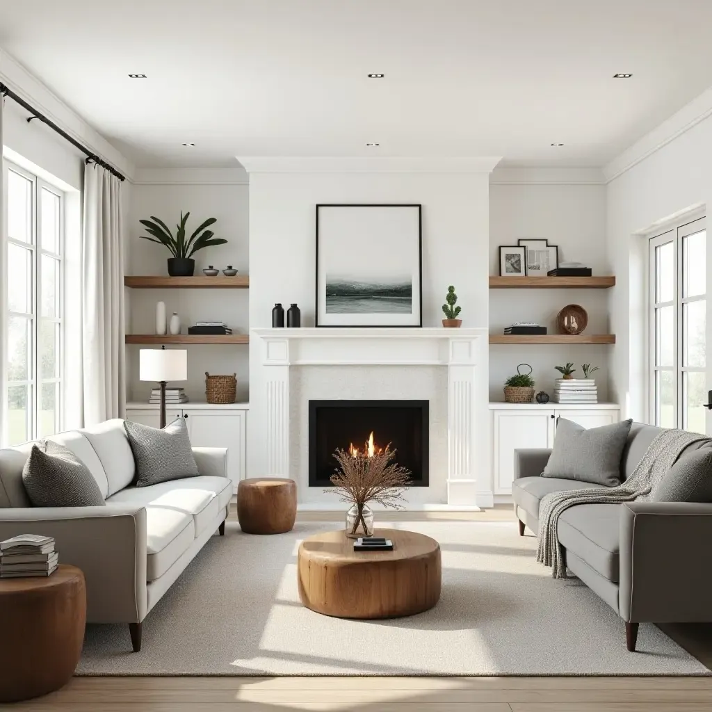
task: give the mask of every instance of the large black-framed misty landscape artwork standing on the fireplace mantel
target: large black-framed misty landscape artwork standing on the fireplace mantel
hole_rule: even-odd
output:
[[[316,325],[423,325],[420,205],[316,206]]]

